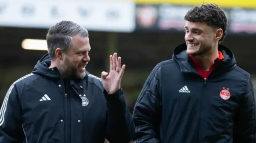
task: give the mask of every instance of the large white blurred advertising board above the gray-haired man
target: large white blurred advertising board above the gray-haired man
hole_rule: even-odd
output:
[[[132,32],[134,12],[132,1],[1,0],[0,26],[49,28],[71,20],[92,31]]]

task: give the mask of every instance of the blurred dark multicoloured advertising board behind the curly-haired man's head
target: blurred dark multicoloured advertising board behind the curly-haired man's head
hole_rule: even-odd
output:
[[[192,6],[137,4],[136,30],[183,32],[186,12]],[[256,34],[256,9],[223,9],[228,18],[228,33]]]

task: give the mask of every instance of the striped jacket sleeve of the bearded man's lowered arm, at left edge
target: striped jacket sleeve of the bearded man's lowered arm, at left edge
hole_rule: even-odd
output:
[[[0,143],[22,143],[24,137],[20,100],[12,84],[0,110]]]

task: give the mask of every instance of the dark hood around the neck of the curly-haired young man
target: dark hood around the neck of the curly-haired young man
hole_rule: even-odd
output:
[[[186,43],[178,45],[174,49],[172,59],[178,61],[182,72],[197,72],[196,69],[194,68],[194,63],[186,53],[186,49]],[[224,56],[224,60],[222,60],[220,65],[218,65],[218,69],[221,69],[219,72],[229,71],[236,67],[236,60],[230,49],[228,49],[224,45],[219,45],[218,51],[221,51],[222,55]]]

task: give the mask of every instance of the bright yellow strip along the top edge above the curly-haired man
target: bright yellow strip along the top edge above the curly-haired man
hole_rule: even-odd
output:
[[[218,4],[222,8],[256,8],[256,0],[134,0],[137,4],[174,4],[200,5],[202,3]]]

